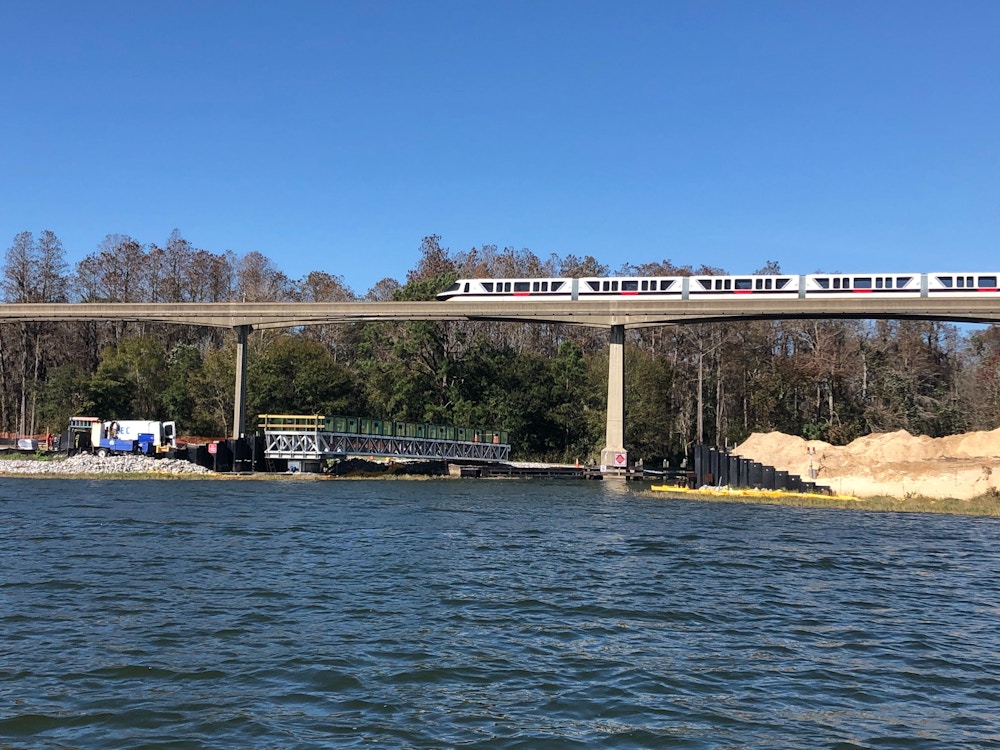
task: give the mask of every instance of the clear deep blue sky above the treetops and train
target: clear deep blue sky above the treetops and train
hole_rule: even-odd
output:
[[[36,0],[0,65],[0,250],[1000,268],[996,0]]]

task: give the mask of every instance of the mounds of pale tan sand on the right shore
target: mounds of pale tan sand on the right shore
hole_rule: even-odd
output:
[[[968,500],[1000,487],[1000,429],[944,438],[899,430],[844,446],[780,432],[754,433],[733,452],[803,478],[814,476],[837,494],[857,497]]]

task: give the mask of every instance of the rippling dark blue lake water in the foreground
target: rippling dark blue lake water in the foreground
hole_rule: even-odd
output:
[[[1000,522],[0,480],[0,748],[1000,748]]]

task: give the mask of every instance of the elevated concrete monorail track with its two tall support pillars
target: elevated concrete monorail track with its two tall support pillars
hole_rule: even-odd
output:
[[[178,302],[5,303],[0,323],[144,321],[231,328],[236,333],[233,437],[246,434],[246,342],[253,329],[379,321],[565,323],[609,330],[608,412],[601,466],[628,465],[625,446],[625,331],[663,325],[779,319],[940,320],[1000,323],[1000,294],[879,298],[857,294],[774,299],[741,294],[723,299],[458,300],[447,302]]]

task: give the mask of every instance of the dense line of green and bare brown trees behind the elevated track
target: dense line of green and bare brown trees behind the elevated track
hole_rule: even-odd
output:
[[[22,232],[2,269],[6,302],[432,300],[459,277],[723,274],[423,240],[404,281],[363,294],[313,271],[291,279],[261,253],[161,247],[108,235],[70,268],[49,231]],[[765,263],[757,273],[776,274]],[[659,462],[693,443],[779,430],[843,444],[905,429],[932,437],[1000,424],[1000,327],[935,321],[759,321],[629,330],[626,445]],[[566,324],[383,322],[255,331],[248,414],[371,416],[507,430],[516,457],[595,458],[604,442],[608,332]],[[73,415],[172,419],[232,432],[231,331],[135,321],[0,325],[0,431],[65,429]],[[252,419],[253,417],[251,417]]]

